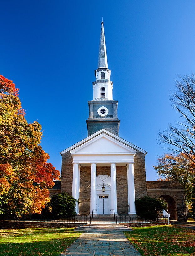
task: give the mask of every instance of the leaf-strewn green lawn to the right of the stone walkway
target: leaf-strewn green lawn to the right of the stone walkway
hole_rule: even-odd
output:
[[[124,232],[144,256],[195,255],[195,231],[172,225],[133,228]]]

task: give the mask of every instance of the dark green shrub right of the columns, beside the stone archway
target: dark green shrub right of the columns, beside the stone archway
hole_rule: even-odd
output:
[[[166,210],[161,201],[151,197],[135,200],[135,207],[138,216],[150,220],[156,220],[158,217],[157,211]]]

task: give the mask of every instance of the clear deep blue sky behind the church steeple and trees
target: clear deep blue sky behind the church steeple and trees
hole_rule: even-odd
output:
[[[147,180],[158,131],[174,124],[169,91],[195,70],[195,1],[0,1],[0,74],[20,89],[26,119],[61,171],[59,152],[87,137],[103,17],[119,136],[143,148]]]

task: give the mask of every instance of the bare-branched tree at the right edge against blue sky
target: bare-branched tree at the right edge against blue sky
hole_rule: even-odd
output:
[[[173,153],[183,153],[195,163],[195,75],[178,76],[171,92],[172,107],[181,114],[177,124],[159,132],[159,141]]]

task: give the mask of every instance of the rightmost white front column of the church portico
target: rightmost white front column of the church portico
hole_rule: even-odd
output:
[[[128,169],[129,169],[128,189],[129,189],[129,204],[130,204],[129,214],[136,214],[136,210],[135,210],[134,163],[128,163]]]

